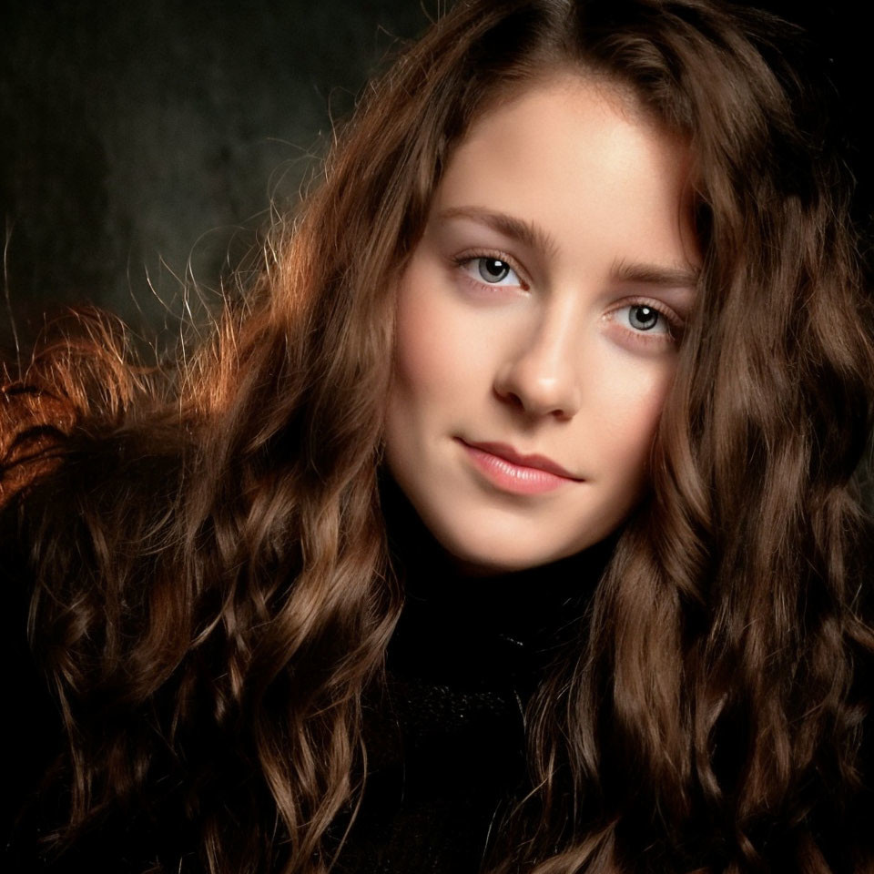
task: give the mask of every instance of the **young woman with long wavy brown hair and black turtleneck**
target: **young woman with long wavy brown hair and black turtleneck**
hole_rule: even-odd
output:
[[[874,868],[871,303],[793,46],[462,2],[208,341],[36,353],[17,869]]]

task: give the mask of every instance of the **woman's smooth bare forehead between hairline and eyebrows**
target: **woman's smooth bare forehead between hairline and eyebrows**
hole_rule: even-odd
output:
[[[493,209],[544,228],[559,249],[686,262],[695,260],[689,163],[682,137],[619,88],[556,75],[483,107],[452,154],[432,216]]]

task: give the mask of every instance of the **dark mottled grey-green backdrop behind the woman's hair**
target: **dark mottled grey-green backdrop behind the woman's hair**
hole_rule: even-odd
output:
[[[0,212],[10,314],[94,301],[173,332],[190,268],[215,288],[286,208],[367,78],[441,0],[0,0]],[[808,27],[870,215],[863,12],[767,2]],[[864,5],[860,5],[864,9]],[[2,303],[2,301],[0,301]]]

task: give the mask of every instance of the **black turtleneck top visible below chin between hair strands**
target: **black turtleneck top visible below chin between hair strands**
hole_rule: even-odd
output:
[[[405,604],[365,711],[369,775],[339,870],[474,874],[525,789],[525,706],[579,635],[612,544],[470,576],[396,485],[382,498]]]

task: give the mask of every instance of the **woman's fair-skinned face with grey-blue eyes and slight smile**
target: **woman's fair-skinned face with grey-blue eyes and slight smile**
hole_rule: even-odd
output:
[[[644,493],[695,297],[687,172],[682,142],[569,75],[455,150],[400,281],[386,458],[469,573],[579,552]]]

